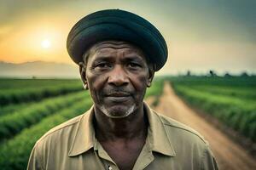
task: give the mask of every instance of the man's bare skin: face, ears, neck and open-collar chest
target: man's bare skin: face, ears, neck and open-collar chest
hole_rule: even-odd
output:
[[[87,57],[80,74],[94,101],[96,139],[119,169],[130,170],[147,137],[143,97],[154,77],[153,66],[127,42],[97,43]]]

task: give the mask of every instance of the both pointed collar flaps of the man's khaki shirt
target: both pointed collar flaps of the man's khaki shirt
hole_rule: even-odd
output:
[[[143,105],[144,111],[146,111],[148,116],[148,140],[151,150],[166,156],[175,156],[175,151],[170,139],[168,139],[166,129],[160,120],[160,116],[154,113],[145,102]],[[94,106],[81,116],[68,156],[78,156],[96,145],[95,129],[93,127],[93,107]]]

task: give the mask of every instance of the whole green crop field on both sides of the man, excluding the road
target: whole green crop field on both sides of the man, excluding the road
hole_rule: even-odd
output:
[[[158,104],[163,82],[197,110],[256,141],[255,77],[156,77],[146,98]],[[92,105],[80,80],[0,79],[0,167],[26,169],[35,142]]]

